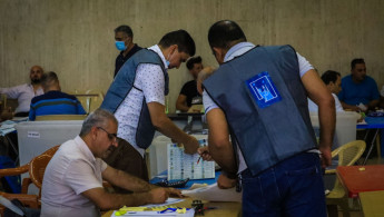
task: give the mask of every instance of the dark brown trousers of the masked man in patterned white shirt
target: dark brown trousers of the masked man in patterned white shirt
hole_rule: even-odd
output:
[[[118,147],[114,148],[112,152],[104,160],[115,169],[122,170],[146,181],[149,180],[146,160],[128,141],[121,138],[119,139]],[[112,187],[119,194],[131,193],[117,186]]]

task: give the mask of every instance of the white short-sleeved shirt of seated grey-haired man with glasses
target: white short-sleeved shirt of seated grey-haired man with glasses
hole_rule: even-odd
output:
[[[99,207],[81,193],[102,188],[107,164],[95,158],[78,136],[61,145],[49,161],[41,187],[41,217],[100,216]]]

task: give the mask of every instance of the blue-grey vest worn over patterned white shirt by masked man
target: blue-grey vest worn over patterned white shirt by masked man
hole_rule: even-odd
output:
[[[121,67],[114,82],[109,87],[100,108],[115,114],[132,88],[142,91],[134,86],[136,79],[136,70],[140,63],[152,63],[161,67],[166,83],[165,95],[168,95],[168,72],[164,67],[161,58],[155,51],[141,49],[131,58],[129,58]],[[139,122],[136,131],[137,146],[144,149],[148,148],[154,139],[155,130],[156,129],[150,120],[146,99],[144,98]]]

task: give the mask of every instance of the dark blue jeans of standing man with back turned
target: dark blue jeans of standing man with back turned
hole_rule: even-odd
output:
[[[326,217],[318,154],[299,154],[253,176],[243,176],[245,217]]]

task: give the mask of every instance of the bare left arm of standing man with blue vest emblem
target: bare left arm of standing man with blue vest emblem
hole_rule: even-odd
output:
[[[214,108],[207,112],[208,121],[208,148],[214,160],[228,174],[236,174],[237,166],[227,119],[221,109]]]

